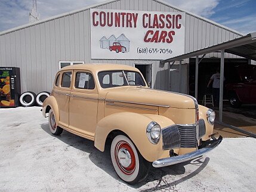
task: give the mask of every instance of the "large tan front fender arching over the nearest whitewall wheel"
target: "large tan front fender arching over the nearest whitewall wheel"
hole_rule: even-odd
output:
[[[115,113],[104,117],[98,122],[95,130],[94,145],[104,151],[107,135],[111,131],[119,130],[128,135],[140,151],[144,159],[153,162],[156,159],[169,157],[169,150],[162,150],[162,137],[158,144],[150,143],[146,135],[146,128],[150,122],[157,122],[161,128],[175,123],[164,116],[157,114]]]

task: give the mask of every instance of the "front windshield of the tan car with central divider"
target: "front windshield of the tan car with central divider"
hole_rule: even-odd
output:
[[[98,73],[98,80],[102,88],[112,88],[116,86],[146,86],[140,73],[117,70]]]

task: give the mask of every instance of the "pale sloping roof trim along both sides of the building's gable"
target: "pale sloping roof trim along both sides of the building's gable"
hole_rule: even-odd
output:
[[[108,0],[108,1],[100,2],[100,3],[98,3],[98,4],[88,5],[88,6],[86,6],[86,7],[80,8],[80,9],[78,9],[78,10],[73,10],[73,11],[69,11],[69,12],[66,12],[66,13],[58,14],[57,16],[52,16],[52,17],[44,18],[43,20],[36,21],[35,23],[27,23],[27,24],[23,24],[23,25],[21,25],[21,26],[17,26],[17,27],[11,28],[11,29],[4,30],[4,31],[0,32],[0,35],[4,35],[5,33],[14,32],[14,31],[16,31],[16,30],[24,29],[24,28],[26,28],[26,27],[35,26],[36,24],[44,23],[44,22],[46,22],[46,21],[54,20],[54,19],[56,19],[56,18],[60,18],[60,17],[64,17],[64,16],[69,16],[69,15],[71,15],[71,14],[79,13],[79,12],[81,12],[81,11],[85,11],[85,10],[88,10],[88,9],[90,9],[90,8],[98,7],[98,6],[100,6],[100,5],[109,4],[110,2],[115,2],[115,1],[120,1],[120,0]],[[178,11],[181,11],[181,12],[184,12],[184,13],[187,13],[187,14],[189,14],[189,15],[191,15],[191,16],[200,18],[200,19],[205,20],[205,21],[207,21],[207,22],[209,22],[209,23],[212,23],[212,24],[214,24],[214,25],[216,25],[216,26],[219,26],[219,27],[222,27],[222,28],[224,28],[224,29],[230,30],[230,31],[233,32],[233,33],[237,33],[238,35],[241,35],[241,36],[244,36],[244,35],[245,35],[245,34],[243,34],[243,33],[238,32],[238,31],[235,30],[235,29],[231,29],[231,28],[226,27],[226,26],[224,26],[224,25],[222,25],[222,24],[220,24],[220,23],[217,23],[217,22],[215,22],[215,21],[209,20],[208,18],[205,18],[205,17],[202,17],[202,16],[198,16],[197,14],[191,13],[190,11],[186,11],[186,10],[180,9],[180,8],[178,8],[178,7],[176,7],[176,6],[172,5],[172,4],[169,4],[168,2],[165,2],[165,1],[162,1],[162,0],[153,0],[153,1],[159,2],[160,4],[167,5],[167,6],[169,6],[169,7],[174,8],[175,10],[178,10]]]

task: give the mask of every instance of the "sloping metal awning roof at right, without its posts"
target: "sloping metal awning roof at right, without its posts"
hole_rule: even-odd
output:
[[[177,57],[168,58],[166,60],[162,60],[161,63],[164,64],[179,61],[190,57],[196,57],[198,55],[208,54],[210,52],[218,52],[220,50],[225,50],[225,52],[256,60],[256,32],[249,33],[241,38],[233,39],[211,47],[199,49],[198,51],[192,51]]]

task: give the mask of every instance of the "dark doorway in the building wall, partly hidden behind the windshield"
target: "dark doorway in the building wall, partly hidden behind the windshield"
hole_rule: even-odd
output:
[[[144,79],[147,82],[147,85],[152,88],[153,87],[153,83],[152,83],[152,63],[138,63],[138,64],[134,64],[134,66],[140,70],[140,72],[142,73]]]

